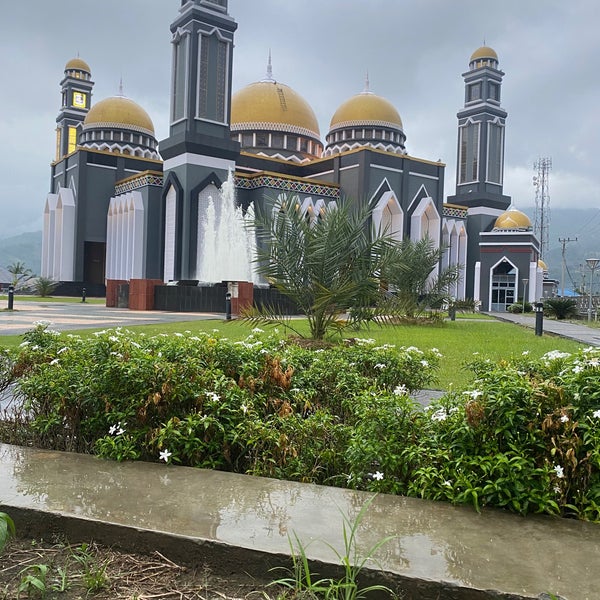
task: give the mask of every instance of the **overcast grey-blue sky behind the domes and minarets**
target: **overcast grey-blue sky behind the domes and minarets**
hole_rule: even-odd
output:
[[[0,18],[0,237],[40,230],[54,158],[59,82],[77,56],[94,100],[124,93],[168,133],[169,25],[180,0],[29,0]],[[504,191],[533,214],[533,164],[550,157],[550,207],[600,209],[597,0],[229,0],[238,23],[234,91],[273,75],[313,107],[324,140],[337,107],[364,87],[398,109],[409,154],[456,169],[461,74],[494,48],[506,73]]]

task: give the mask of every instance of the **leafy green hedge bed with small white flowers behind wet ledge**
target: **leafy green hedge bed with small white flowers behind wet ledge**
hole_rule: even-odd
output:
[[[423,410],[410,394],[434,382],[436,349],[25,337],[2,364],[28,443],[600,521],[598,349],[474,360],[470,389]]]

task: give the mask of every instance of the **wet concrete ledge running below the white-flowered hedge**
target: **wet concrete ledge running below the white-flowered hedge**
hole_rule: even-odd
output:
[[[49,530],[79,533],[83,540],[93,535],[98,542],[138,550],[143,535],[153,534],[153,549],[185,552],[188,562],[233,556],[233,564],[221,567],[238,572],[262,568],[268,576],[268,568],[289,555],[289,536],[297,536],[310,559],[339,564],[331,548],[344,555],[342,515],[352,522],[371,497],[0,444],[0,510],[13,514],[18,527],[45,529],[46,536]],[[368,556],[388,536],[393,537],[376,554],[377,564],[404,583],[406,598],[535,598],[544,592],[568,600],[599,597],[599,525],[496,510],[478,514],[469,507],[381,494],[358,531],[357,556]]]

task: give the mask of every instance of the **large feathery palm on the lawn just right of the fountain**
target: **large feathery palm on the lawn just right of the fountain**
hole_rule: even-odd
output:
[[[380,276],[393,252],[387,235],[370,235],[369,208],[340,202],[316,219],[294,199],[282,199],[255,217],[257,272],[303,312],[310,335],[322,340],[331,330],[373,318],[380,304]],[[350,308],[349,319],[340,319]],[[283,322],[276,307],[252,309],[255,322]],[[289,322],[286,321],[289,326]]]

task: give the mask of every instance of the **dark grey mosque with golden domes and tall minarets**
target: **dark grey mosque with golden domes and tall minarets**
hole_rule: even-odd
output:
[[[160,308],[156,289],[198,280],[206,213],[232,177],[244,208],[264,210],[285,194],[317,218],[342,198],[371,203],[373,230],[443,244],[441,267],[461,271],[452,294],[483,310],[542,296],[539,241],[503,193],[504,73],[492,48],[478,48],[462,74],[456,191],[445,200],[445,165],[410,155],[398,110],[368,81],[332,110],[324,140],[310,104],[273,76],[270,58],[264,79],[233,93],[236,28],[227,0],[181,0],[160,143],[141,106],[122,94],[93,102],[89,65],[66,64],[42,276],[106,293],[108,305],[126,285],[130,308]]]

